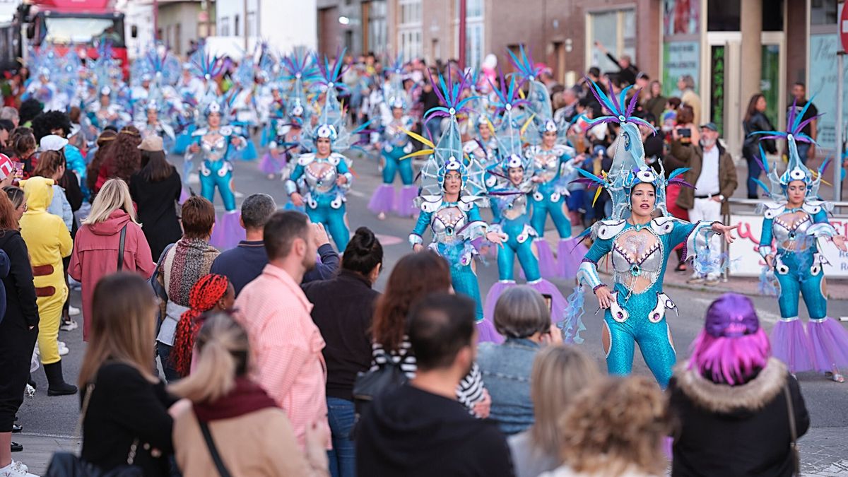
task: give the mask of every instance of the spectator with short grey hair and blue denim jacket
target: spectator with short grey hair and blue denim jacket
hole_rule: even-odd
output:
[[[533,359],[542,345],[561,343],[562,334],[550,324],[550,311],[542,295],[525,285],[500,295],[494,306],[494,328],[506,340],[500,345],[482,343],[477,364],[492,396],[489,418],[505,435],[512,435],[533,425]]]

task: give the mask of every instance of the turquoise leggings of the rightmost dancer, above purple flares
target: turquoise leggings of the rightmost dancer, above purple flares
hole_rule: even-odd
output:
[[[817,263],[813,263],[812,251],[795,253],[791,251],[778,251],[780,262],[789,270],[786,273],[781,273],[781,267],[775,267],[777,270],[774,276],[778,278],[780,283],[780,296],[778,297],[778,306],[780,306],[780,316],[784,318],[797,317],[799,298],[798,294],[804,297],[806,303],[806,311],[810,313],[812,319],[823,318],[828,315],[828,299],[824,295],[822,289],[824,271]],[[817,274],[813,275],[811,268],[813,265],[817,267]]]

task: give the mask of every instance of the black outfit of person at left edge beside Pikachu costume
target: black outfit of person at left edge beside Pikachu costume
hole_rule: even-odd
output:
[[[6,313],[0,321],[0,432],[9,432],[14,414],[24,401],[30,375],[32,349],[38,336],[38,306],[30,256],[20,232],[0,232],[0,250],[8,255],[9,265],[8,275],[3,277]]]

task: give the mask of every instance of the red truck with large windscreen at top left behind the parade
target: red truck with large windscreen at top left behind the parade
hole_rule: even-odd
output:
[[[73,48],[81,58],[97,59],[98,47],[108,42],[129,76],[124,14],[114,9],[114,0],[26,0],[16,17],[36,50],[52,45],[64,55]]]

